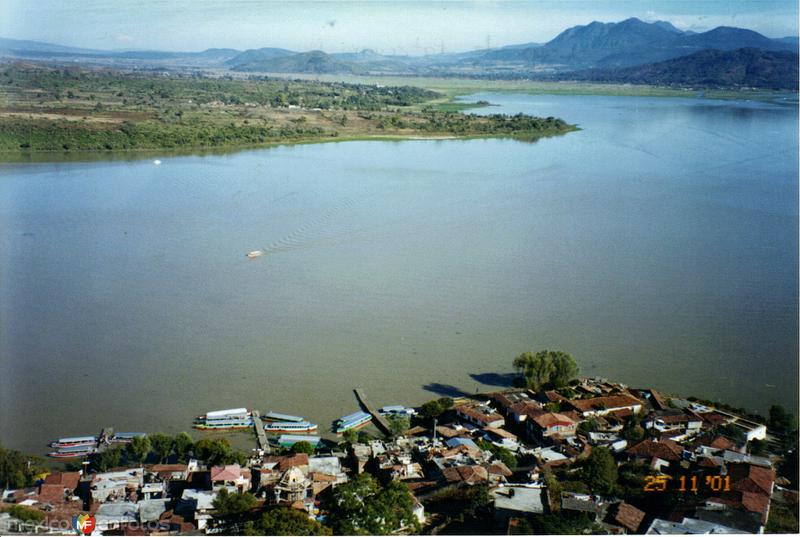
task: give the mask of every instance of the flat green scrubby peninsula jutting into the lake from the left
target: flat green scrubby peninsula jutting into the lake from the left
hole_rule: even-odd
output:
[[[0,152],[202,150],[342,140],[507,137],[576,130],[554,118],[474,115],[412,86],[6,65]],[[485,106],[488,103],[478,103]]]

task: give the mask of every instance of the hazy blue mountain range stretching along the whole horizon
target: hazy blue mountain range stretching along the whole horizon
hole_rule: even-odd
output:
[[[750,52],[719,54],[742,49]],[[704,51],[719,53],[697,55]],[[544,76],[629,82],[657,79],[667,84],[699,80],[702,78],[699,74],[688,76],[688,73],[708,69],[709,73],[718,73],[711,77],[712,85],[757,82],[769,87],[797,85],[797,51],[798,38],[794,36],[772,39],[752,30],[725,26],[697,33],[682,31],[667,21],[644,22],[637,18],[575,26],[547,43],[426,56],[384,55],[369,49],[330,54],[319,50],[297,52],[282,48],[245,51],[222,48],[202,52],[101,51],[0,38],[0,57],[123,67],[491,78]],[[775,54],[766,54],[768,52]],[[670,60],[679,58],[683,60],[670,63]],[[792,63],[794,69],[791,69]],[[728,76],[731,70],[746,71],[747,65],[752,68],[755,64],[770,74]],[[723,66],[728,74],[721,71]],[[630,70],[635,67],[640,69]],[[682,75],[677,78],[670,76],[678,72]]]

